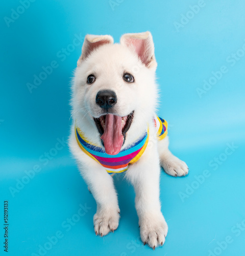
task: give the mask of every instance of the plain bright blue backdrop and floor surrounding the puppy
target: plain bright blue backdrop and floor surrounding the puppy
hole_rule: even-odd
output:
[[[190,12],[198,4],[200,10]],[[8,255],[38,255],[45,243],[45,255],[245,255],[245,56],[239,50],[245,44],[245,2],[38,0],[6,22],[14,11],[23,11],[19,6],[19,1],[5,1],[0,11],[1,255],[5,200]],[[147,30],[158,61],[158,113],[169,122],[170,150],[190,168],[185,178],[161,173],[169,232],[155,251],[139,240],[134,190],[122,177],[115,177],[119,227],[106,237],[95,236],[95,201],[67,144],[57,144],[67,140],[71,124],[69,83],[82,47],[82,41],[72,46],[74,38],[110,34],[118,42],[124,33]],[[234,60],[231,54],[240,57]],[[30,92],[27,83],[52,61],[58,67]],[[215,82],[212,72],[222,66],[227,72]],[[210,78],[213,85],[200,96],[197,90],[204,90]],[[232,143],[236,148],[227,155]],[[47,160],[45,152],[53,156]],[[204,170],[208,177],[197,182]],[[80,204],[85,211],[78,219]],[[67,218],[77,221],[70,230]],[[57,231],[63,237],[51,248],[47,237]],[[225,245],[229,236],[232,242]]]

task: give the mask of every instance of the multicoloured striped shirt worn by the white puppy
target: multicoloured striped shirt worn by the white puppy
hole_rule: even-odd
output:
[[[158,116],[154,117],[154,122],[158,139],[162,140],[167,135],[167,122]],[[128,169],[129,164],[137,162],[144,153],[149,140],[148,129],[148,131],[145,131],[145,133],[140,136],[132,146],[125,148],[117,155],[108,155],[103,147],[91,144],[76,124],[75,134],[81,150],[104,166],[109,174],[125,172],[125,170]]]

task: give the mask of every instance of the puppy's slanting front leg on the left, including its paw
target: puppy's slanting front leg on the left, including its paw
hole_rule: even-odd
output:
[[[118,227],[120,209],[112,177],[96,162],[91,162],[90,166],[79,164],[79,169],[97,204],[93,217],[95,234],[105,236],[114,232]]]

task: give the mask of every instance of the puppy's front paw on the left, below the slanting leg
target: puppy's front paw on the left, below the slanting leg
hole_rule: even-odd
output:
[[[93,216],[94,231],[97,236],[105,236],[110,231],[114,232],[117,229],[120,218],[119,208],[104,207],[97,209]]]

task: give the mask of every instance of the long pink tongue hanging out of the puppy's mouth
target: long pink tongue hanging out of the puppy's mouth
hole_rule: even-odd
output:
[[[101,136],[104,141],[105,151],[108,155],[120,152],[124,136],[121,134],[121,117],[112,114],[106,115],[105,132]]]

